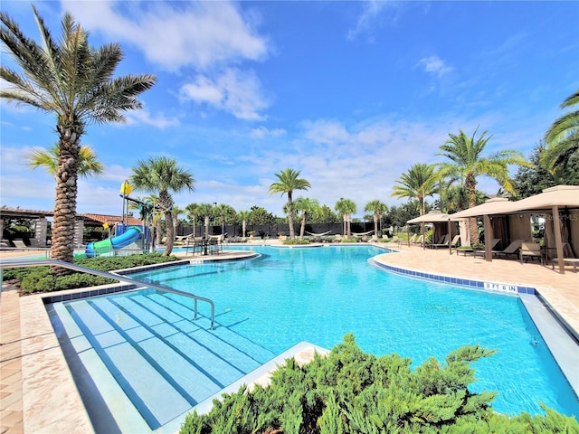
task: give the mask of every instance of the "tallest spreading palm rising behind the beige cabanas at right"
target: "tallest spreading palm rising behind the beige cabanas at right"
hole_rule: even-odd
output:
[[[458,176],[464,181],[469,198],[469,207],[477,204],[477,177],[487,175],[495,179],[498,184],[508,193],[516,194],[513,181],[508,176],[508,165],[529,165],[525,157],[518,151],[502,150],[496,154],[484,157],[482,152],[489,142],[487,131],[483,132],[479,138],[477,127],[468,137],[464,131],[459,130],[458,135],[449,133],[449,139],[441,145],[441,154],[446,156],[451,162],[444,162],[439,165],[441,176]],[[476,219],[470,219],[470,241],[477,244],[479,242],[479,231]]]

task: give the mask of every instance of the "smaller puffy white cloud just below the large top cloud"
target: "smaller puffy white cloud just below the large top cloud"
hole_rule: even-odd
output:
[[[263,95],[261,81],[252,71],[230,68],[213,80],[199,75],[181,88],[182,99],[207,104],[245,120],[261,120],[261,110],[269,100]]]

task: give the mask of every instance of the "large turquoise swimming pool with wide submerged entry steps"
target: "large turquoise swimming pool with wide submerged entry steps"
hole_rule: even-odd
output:
[[[148,399],[142,393],[163,397],[158,408],[139,410],[152,429],[300,341],[331,348],[349,332],[367,352],[398,353],[414,364],[464,344],[497,348],[475,364],[479,382],[472,387],[500,392],[496,410],[539,413],[541,401],[579,414],[577,397],[518,297],[385,272],[367,263],[384,252],[370,246],[252,250],[262,256],[133,275],[212,298],[213,332],[208,308],[200,305],[205,318],[193,322],[188,302],[151,290],[55,310],[82,356],[109,359],[131,401]],[[134,368],[141,359],[152,368]],[[158,392],[162,387],[167,392]]]

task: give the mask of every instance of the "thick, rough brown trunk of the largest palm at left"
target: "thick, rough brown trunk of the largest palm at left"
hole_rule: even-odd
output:
[[[52,259],[72,262],[74,256],[74,222],[76,218],[77,179],[80,135],[71,128],[58,127],[60,132],[56,200],[52,218]],[[69,274],[68,269],[52,267],[56,276]]]

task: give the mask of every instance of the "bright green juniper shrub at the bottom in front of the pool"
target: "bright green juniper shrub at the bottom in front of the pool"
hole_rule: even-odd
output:
[[[470,392],[470,363],[493,353],[464,346],[446,363],[431,358],[412,371],[410,359],[365,354],[346,335],[326,358],[303,367],[288,359],[270,386],[242,386],[208,414],[188,414],[181,433],[579,432],[574,418],[555,410],[508,418],[492,410],[497,393]]]

